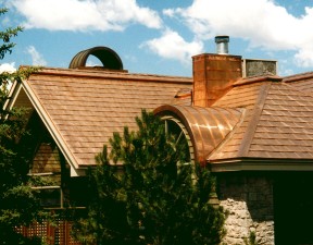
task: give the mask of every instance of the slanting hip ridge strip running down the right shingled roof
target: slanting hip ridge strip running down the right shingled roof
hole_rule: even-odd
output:
[[[238,157],[247,156],[249,150],[250,150],[250,146],[251,146],[251,143],[253,140],[255,130],[258,127],[258,122],[259,122],[260,117],[262,114],[262,111],[263,111],[263,108],[264,108],[264,105],[265,105],[265,101],[267,98],[267,94],[268,94],[271,87],[272,87],[272,83],[264,83],[261,85],[259,96],[255,100],[254,108],[253,108],[252,113],[251,113],[251,115],[253,115],[253,117],[248,122],[247,128],[249,128],[249,130],[247,130],[242,136],[242,142],[241,142],[239,149],[238,149]]]

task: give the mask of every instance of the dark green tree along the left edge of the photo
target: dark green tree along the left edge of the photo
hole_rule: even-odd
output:
[[[0,14],[8,10],[0,9]],[[12,52],[11,38],[21,27],[0,32],[0,59]],[[38,238],[25,238],[15,231],[16,226],[28,225],[47,213],[42,212],[36,193],[32,191],[27,176],[29,156],[21,138],[27,136],[26,109],[4,109],[9,99],[8,85],[21,82],[35,69],[23,69],[13,73],[0,74],[0,244],[40,244]]]

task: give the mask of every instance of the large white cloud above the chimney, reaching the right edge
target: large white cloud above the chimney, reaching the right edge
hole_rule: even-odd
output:
[[[299,65],[313,66],[313,8],[297,17],[274,0],[193,0],[163,14],[183,20],[201,40],[229,35],[248,40],[250,48],[292,50]]]

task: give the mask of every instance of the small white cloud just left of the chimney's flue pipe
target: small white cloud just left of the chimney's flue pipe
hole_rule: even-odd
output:
[[[160,57],[183,63],[190,63],[192,56],[203,51],[201,41],[187,42],[178,33],[171,29],[166,29],[160,38],[146,41],[141,47],[148,47]]]

